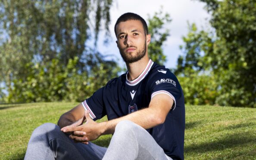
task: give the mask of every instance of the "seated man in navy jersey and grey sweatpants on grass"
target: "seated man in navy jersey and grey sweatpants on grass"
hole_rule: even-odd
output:
[[[126,74],[63,114],[58,126],[35,129],[26,160],[184,159],[184,96],[177,78],[149,59],[150,34],[139,15],[121,15],[115,33]],[[108,121],[94,121],[105,115]],[[106,134],[113,134],[108,148],[90,142]]]

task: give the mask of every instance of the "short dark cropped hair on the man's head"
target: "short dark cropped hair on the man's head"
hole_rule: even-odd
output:
[[[131,13],[131,12],[128,12],[128,13],[125,13],[123,15],[121,15],[117,21],[116,21],[116,25],[115,25],[115,34],[116,34],[116,26],[120,23],[120,22],[126,22],[128,20],[139,20],[142,25],[143,25],[143,29],[144,29],[144,33],[145,35],[148,34],[148,29],[147,29],[147,23],[146,21],[140,17],[140,15],[137,15],[135,13]]]

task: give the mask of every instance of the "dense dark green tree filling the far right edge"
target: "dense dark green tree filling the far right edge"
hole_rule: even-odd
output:
[[[256,107],[255,6],[255,0],[224,0],[212,10],[217,35],[212,62],[221,77],[221,105]]]

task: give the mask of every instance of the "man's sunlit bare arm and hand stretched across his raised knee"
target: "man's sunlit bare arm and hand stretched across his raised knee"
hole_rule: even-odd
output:
[[[97,139],[100,135],[113,134],[117,123],[122,120],[131,120],[134,123],[142,126],[144,129],[149,129],[164,123],[165,118],[173,105],[173,100],[169,95],[155,95],[150,102],[148,108],[128,114],[124,117],[114,120],[105,121],[102,123],[94,122],[88,113],[85,114],[87,122],[81,126],[67,126],[62,128],[63,132],[74,132],[70,138],[88,144],[88,141]]]

